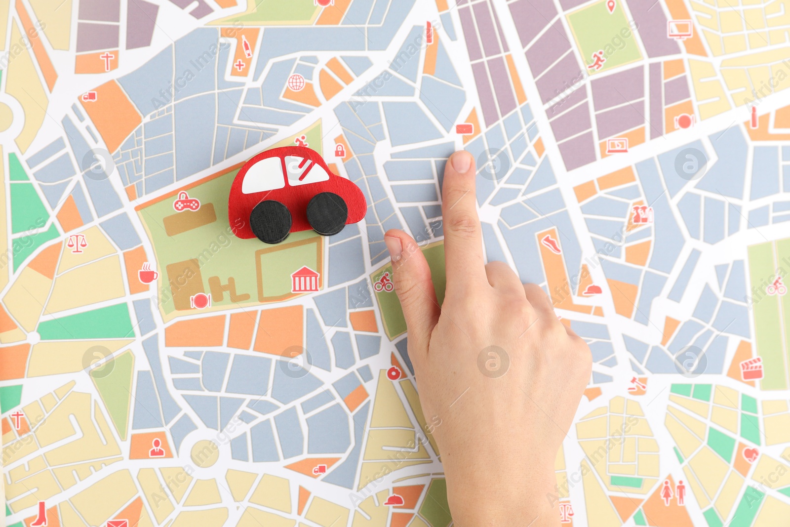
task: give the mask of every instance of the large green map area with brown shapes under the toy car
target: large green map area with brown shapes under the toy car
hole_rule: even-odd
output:
[[[211,307],[279,302],[291,292],[291,274],[303,266],[323,273],[325,241],[314,231],[292,232],[267,245],[239,239],[228,223],[228,194],[239,167],[210,175],[186,188],[201,202],[197,211],[176,212],[179,191],[141,205],[137,213],[151,239],[160,274],[159,307],[167,321],[194,313],[190,297],[211,295]]]

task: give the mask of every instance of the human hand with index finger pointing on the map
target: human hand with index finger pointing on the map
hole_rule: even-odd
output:
[[[547,495],[555,494],[555,457],[592,357],[543,289],[522,285],[505,263],[483,262],[475,172],[468,152],[446,165],[441,308],[414,239],[394,229],[385,235],[408,355],[423,413],[441,420],[433,435],[454,524],[559,525]]]

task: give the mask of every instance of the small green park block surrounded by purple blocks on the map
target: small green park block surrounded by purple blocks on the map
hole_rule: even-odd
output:
[[[591,75],[641,59],[636,36],[620,2],[611,13],[606,3],[607,0],[601,0],[567,15],[585,66],[595,60],[593,53],[604,51],[606,62],[600,70],[586,69]]]

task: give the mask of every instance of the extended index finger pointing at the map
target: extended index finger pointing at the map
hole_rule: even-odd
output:
[[[483,235],[477,216],[475,177],[472,154],[461,150],[450,156],[442,184],[448,288],[457,288],[469,280],[488,283],[483,262]]]

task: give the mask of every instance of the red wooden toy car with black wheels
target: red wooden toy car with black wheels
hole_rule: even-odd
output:
[[[365,196],[329,171],[322,156],[303,146],[267,150],[239,170],[228,197],[228,221],[239,238],[280,243],[290,232],[329,236],[367,213]]]

